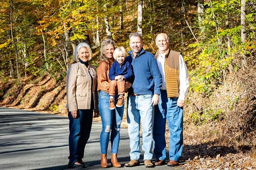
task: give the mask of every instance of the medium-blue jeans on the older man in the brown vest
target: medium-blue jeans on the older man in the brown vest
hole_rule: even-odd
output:
[[[159,103],[154,115],[154,154],[156,159],[166,159],[165,125],[166,119],[170,132],[169,158],[178,161],[183,148],[183,107],[177,105],[178,97],[167,97],[166,90],[161,90]]]

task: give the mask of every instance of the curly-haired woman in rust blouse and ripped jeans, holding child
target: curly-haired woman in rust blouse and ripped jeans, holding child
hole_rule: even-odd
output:
[[[102,131],[100,133],[100,149],[102,168],[108,168],[107,150],[109,136],[111,132],[111,164],[114,167],[121,165],[117,160],[117,152],[120,140],[120,125],[124,114],[124,105],[116,107],[114,110],[109,109],[109,84],[110,79],[108,76],[109,69],[114,62],[113,52],[115,43],[113,40],[106,39],[102,42],[100,48],[100,65],[98,67],[98,96],[99,96],[99,110],[102,120]],[[117,101],[118,96],[116,95]]]

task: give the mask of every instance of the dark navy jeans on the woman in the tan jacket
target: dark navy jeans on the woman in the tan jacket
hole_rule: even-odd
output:
[[[78,109],[76,119],[72,117],[71,112],[68,112],[70,153],[68,165],[72,165],[84,157],[84,148],[92,128],[92,111],[92,109]]]

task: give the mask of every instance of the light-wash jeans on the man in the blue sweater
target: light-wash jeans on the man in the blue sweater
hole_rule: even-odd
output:
[[[142,122],[142,150],[144,160],[152,159],[154,107],[153,95],[129,95],[127,99],[127,123],[130,137],[130,158],[140,159],[140,121]]]

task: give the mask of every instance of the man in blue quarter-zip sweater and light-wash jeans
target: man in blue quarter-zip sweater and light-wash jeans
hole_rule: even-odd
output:
[[[127,97],[127,123],[130,137],[130,162],[124,166],[140,164],[140,121],[142,123],[142,150],[144,164],[152,164],[154,105],[158,104],[162,77],[152,53],[143,49],[142,36],[132,33],[129,36],[131,51],[127,60],[132,64],[134,82]]]

